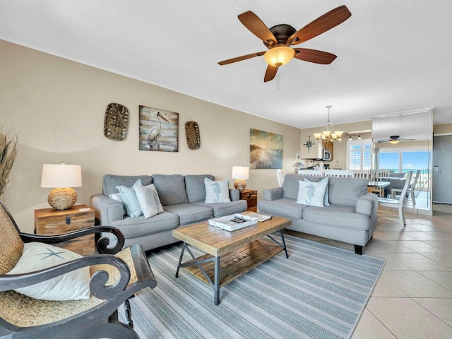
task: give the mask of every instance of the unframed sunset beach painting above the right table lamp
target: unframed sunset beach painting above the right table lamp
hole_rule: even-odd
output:
[[[249,168],[283,168],[283,136],[250,129]]]

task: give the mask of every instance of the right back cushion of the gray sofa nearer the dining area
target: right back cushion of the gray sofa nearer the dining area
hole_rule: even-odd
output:
[[[367,193],[368,183],[367,179],[331,177],[328,187],[331,205],[355,206],[357,198]]]

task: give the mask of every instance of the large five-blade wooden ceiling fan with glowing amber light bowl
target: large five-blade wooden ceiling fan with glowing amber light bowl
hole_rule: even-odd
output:
[[[343,23],[350,16],[352,16],[352,13],[350,13],[347,6],[339,6],[323,14],[323,16],[316,18],[316,20],[297,31],[291,25],[287,24],[275,25],[268,29],[256,14],[247,11],[239,14],[240,22],[251,33],[262,40],[263,44],[268,48],[268,51],[227,59],[220,61],[218,64],[227,65],[237,61],[263,56],[268,64],[266,75],[263,78],[264,82],[273,80],[278,71],[278,67],[287,64],[292,58],[314,62],[316,64],[331,64],[336,59],[334,54],[308,48],[292,49],[290,46],[301,44],[317,35],[321,35],[323,32],[331,30],[331,28]]]

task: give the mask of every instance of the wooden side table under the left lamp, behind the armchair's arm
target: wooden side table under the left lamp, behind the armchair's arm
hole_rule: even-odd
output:
[[[89,208],[81,211],[80,208]],[[86,205],[72,206],[67,210],[42,208],[35,210],[35,233],[59,235],[94,226],[94,209]],[[94,234],[55,244],[82,256],[95,252]]]

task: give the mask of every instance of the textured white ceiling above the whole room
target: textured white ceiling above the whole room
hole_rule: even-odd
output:
[[[266,50],[237,19],[302,28],[345,4],[351,18],[297,45],[338,56],[297,59],[263,83]],[[323,126],[435,107],[452,122],[450,0],[0,0],[0,39],[284,124]],[[0,51],[1,52],[1,51]]]

